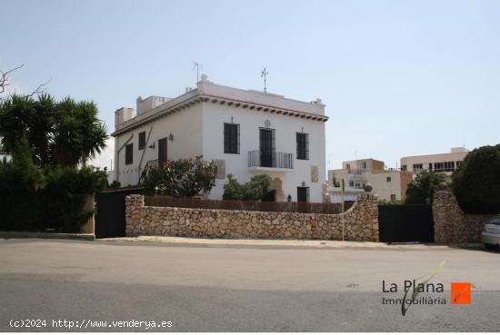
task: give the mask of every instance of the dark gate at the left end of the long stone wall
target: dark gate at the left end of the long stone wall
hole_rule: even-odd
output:
[[[142,188],[105,191],[95,196],[95,238],[125,236],[125,196],[142,194]]]

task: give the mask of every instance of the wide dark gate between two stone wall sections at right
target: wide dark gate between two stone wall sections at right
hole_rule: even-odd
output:
[[[432,207],[424,204],[378,206],[378,232],[384,242],[432,242]]]

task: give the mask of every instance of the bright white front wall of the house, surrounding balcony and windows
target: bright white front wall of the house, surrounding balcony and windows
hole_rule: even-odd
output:
[[[275,130],[275,151],[293,153],[293,169],[249,168],[248,152],[259,150],[259,128]],[[240,153],[224,153],[224,123],[240,125]],[[296,159],[296,133],[309,135],[309,159]],[[322,184],[325,183],[325,123],[293,116],[235,108],[219,103],[203,103],[203,152],[205,160],[225,160],[225,174],[232,173],[239,182],[248,182],[253,175],[268,174],[282,181],[285,198],[297,199],[297,187],[309,187],[309,201],[323,202]],[[311,167],[317,167],[317,182],[313,182]],[[222,179],[217,179],[210,198],[221,199],[224,193]]]

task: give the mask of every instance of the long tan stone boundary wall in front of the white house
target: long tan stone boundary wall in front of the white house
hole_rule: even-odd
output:
[[[125,198],[126,236],[378,241],[377,196],[361,194],[342,214],[247,212],[145,206]]]

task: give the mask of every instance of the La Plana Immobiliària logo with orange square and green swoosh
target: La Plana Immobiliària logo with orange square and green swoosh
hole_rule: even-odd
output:
[[[412,305],[445,305],[445,285],[441,282],[432,282],[435,276],[443,269],[445,261],[441,262],[435,271],[429,276],[418,279],[403,281],[403,290],[395,282],[382,281],[382,291],[385,293],[397,293],[403,291],[403,298],[382,298],[384,305],[401,305],[401,314],[406,315],[406,311]],[[422,280],[425,278],[425,280]],[[422,280],[422,281],[421,281]],[[422,293],[422,294],[421,294]],[[433,294],[425,294],[431,293]],[[471,283],[452,282],[451,283],[451,304],[469,305],[471,303]]]

